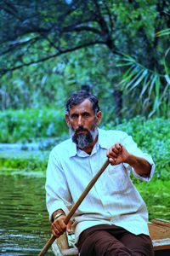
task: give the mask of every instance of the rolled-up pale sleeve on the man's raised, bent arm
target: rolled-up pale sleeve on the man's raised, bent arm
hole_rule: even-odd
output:
[[[152,157],[150,156],[150,154],[146,154],[140,148],[138,148],[137,143],[135,143],[133,141],[133,138],[131,136],[128,136],[126,133],[125,133],[125,137],[122,140],[122,144],[125,148],[127,148],[127,151],[130,154],[144,158],[144,160],[147,160],[151,166],[149,177],[140,176],[137,172],[135,172],[135,170],[133,169],[132,166],[129,166],[128,164],[124,163],[123,165],[126,167],[127,171],[132,171],[133,175],[142,181],[150,182],[150,179],[153,177],[154,172],[155,172],[155,164],[154,164],[154,161],[152,160]]]

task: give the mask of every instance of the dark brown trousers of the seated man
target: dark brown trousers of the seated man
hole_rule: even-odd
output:
[[[84,230],[77,247],[80,256],[152,256],[150,236],[133,235],[116,225],[101,224]]]

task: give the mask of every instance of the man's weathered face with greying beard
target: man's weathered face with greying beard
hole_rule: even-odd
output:
[[[65,115],[67,125],[73,143],[78,148],[87,148],[98,135],[97,125],[101,119],[101,112],[94,113],[92,103],[86,99],[77,106],[70,109],[70,113]]]

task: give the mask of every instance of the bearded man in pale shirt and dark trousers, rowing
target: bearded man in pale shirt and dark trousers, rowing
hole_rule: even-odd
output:
[[[59,237],[74,230],[81,256],[153,255],[148,212],[130,172],[150,181],[154,163],[123,131],[98,128],[102,113],[98,99],[74,93],[65,106],[71,138],[49,155],[46,192],[52,232]],[[89,181],[109,159],[109,165],[75,212],[64,223]]]

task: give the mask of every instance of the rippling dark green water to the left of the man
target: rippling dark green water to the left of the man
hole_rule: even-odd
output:
[[[0,176],[0,255],[37,255],[50,238],[44,183],[45,177]]]

